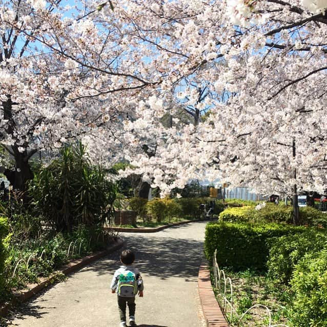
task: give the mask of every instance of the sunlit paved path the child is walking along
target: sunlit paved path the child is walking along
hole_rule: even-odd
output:
[[[135,251],[145,283],[136,299],[139,327],[203,327],[197,275],[203,261],[206,222],[192,222],[158,233],[121,233]],[[120,252],[120,251],[118,251]],[[116,295],[109,285],[118,253],[71,275],[65,282],[23,304],[8,326],[116,327]]]

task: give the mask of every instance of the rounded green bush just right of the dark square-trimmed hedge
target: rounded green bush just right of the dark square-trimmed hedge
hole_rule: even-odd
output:
[[[289,283],[295,264],[307,253],[327,247],[327,234],[313,229],[269,240],[268,276],[274,282]]]

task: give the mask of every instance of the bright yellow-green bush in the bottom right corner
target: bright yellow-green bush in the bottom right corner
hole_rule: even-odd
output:
[[[327,251],[307,254],[295,266],[291,287],[291,317],[295,326],[327,325]]]

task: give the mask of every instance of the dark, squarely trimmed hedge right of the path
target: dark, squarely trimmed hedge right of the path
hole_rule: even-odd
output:
[[[220,267],[264,270],[269,253],[267,240],[304,230],[305,227],[276,223],[209,223],[206,227],[205,254],[209,262],[212,262],[217,249]]]

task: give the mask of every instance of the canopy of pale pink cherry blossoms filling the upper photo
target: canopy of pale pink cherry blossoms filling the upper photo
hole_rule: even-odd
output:
[[[27,103],[33,118],[16,124],[21,134],[4,122],[8,148],[17,138],[23,151],[37,108],[52,121],[26,149],[81,137],[94,159],[128,159],[163,195],[205,176],[266,192],[326,188],[324,1],[5,4],[7,38],[33,43],[3,60],[4,103],[21,118]],[[206,119],[182,121],[183,105]]]

